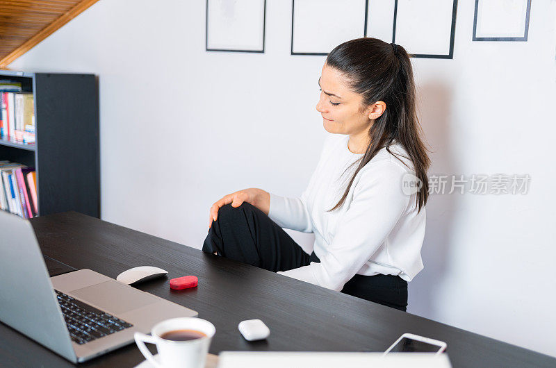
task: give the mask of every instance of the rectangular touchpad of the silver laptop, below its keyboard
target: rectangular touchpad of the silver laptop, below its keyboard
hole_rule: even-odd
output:
[[[71,294],[111,314],[142,308],[159,300],[117,281],[106,281],[83,287],[83,289],[73,290]]]

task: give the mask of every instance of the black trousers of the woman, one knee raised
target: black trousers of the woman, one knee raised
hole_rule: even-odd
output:
[[[320,262],[314,252],[309,256],[275,221],[247,202],[218,210],[203,251],[274,272]],[[403,311],[407,308],[407,281],[400,276],[355,275],[341,292]]]

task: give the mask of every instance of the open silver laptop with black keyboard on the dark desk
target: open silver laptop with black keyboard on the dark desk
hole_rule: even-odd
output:
[[[0,321],[67,360],[129,344],[164,319],[197,317],[90,269],[49,277],[31,223],[17,215],[0,210],[0,234]]]

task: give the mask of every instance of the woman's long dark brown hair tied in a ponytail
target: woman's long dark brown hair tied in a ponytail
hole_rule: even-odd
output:
[[[423,183],[416,199],[419,212],[429,196],[427,169],[430,159],[421,140],[423,131],[416,113],[416,89],[409,54],[400,45],[363,37],[335,47],[328,54],[326,65],[343,74],[349,87],[363,96],[361,112],[377,101],[386,103],[386,110],[369,127],[369,144],[363,157],[358,160],[359,166],[342,198],[329,211],[342,206],[355,176],[380,149],[386,147],[398,158],[389,149],[393,140],[396,140],[409,155],[415,175]],[[402,161],[400,158],[398,160]]]

